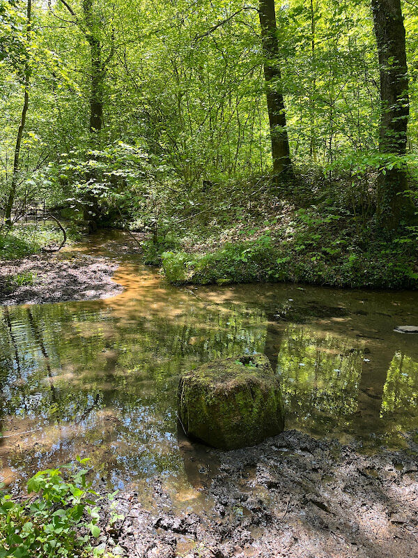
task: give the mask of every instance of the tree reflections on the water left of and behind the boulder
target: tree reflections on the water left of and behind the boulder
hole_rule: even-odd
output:
[[[175,320],[142,314],[135,322],[115,317],[101,303],[10,309],[9,342],[1,347],[7,355],[6,412],[30,418],[31,428],[42,426],[39,445],[27,446],[26,456],[15,451],[10,462],[43,466],[84,448],[98,474],[123,469],[129,478],[183,467],[178,375],[221,354],[260,351],[265,344],[261,310],[194,304]],[[13,420],[14,428],[26,430]]]

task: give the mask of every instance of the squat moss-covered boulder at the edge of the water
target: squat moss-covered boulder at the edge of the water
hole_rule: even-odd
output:
[[[178,414],[187,435],[221,449],[254,446],[284,429],[279,379],[264,354],[187,372],[178,385]]]

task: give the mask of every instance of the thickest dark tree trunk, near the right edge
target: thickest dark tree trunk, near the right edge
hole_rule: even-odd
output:
[[[402,156],[406,153],[409,98],[401,0],[371,0],[371,8],[380,68],[379,149]],[[402,195],[408,186],[406,173],[406,166],[401,165],[385,169],[378,177],[378,215],[389,229],[413,214],[412,202]]]

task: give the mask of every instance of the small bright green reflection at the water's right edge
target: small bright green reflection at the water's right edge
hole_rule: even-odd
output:
[[[402,422],[408,423],[411,411],[418,407],[418,363],[409,356],[397,352],[387,372],[381,416],[401,413]],[[415,416],[415,415],[414,415]]]

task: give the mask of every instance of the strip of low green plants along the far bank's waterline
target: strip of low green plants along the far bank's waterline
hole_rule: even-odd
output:
[[[329,239],[328,239],[329,240]],[[274,246],[270,236],[229,243],[206,254],[165,252],[162,268],[172,284],[288,281],[335,287],[416,288],[417,257],[396,243],[369,250],[339,247],[335,239],[308,239]]]

